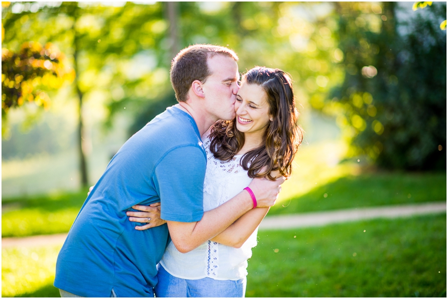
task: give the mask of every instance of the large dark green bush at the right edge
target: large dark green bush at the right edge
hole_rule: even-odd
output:
[[[345,79],[324,111],[340,113],[352,156],[388,169],[446,169],[447,36],[437,25],[446,4],[438,4],[401,23],[395,2],[378,14],[337,5]]]

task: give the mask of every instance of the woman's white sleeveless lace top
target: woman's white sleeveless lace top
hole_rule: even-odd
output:
[[[204,211],[218,207],[240,193],[252,181],[247,171],[239,164],[242,155],[231,161],[215,159],[210,152],[210,139],[205,138],[207,170],[204,181]],[[252,256],[252,247],[257,245],[257,229],[241,248],[225,246],[207,241],[198,248],[180,253],[173,242],[163,254],[160,264],[171,275],[183,279],[239,280],[247,275],[247,259]]]

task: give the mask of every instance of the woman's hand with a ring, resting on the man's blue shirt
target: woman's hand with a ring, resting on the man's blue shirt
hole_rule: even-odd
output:
[[[166,223],[165,220],[160,219],[160,202],[151,203],[150,205],[137,204],[132,206],[132,208],[141,212],[127,211],[126,215],[129,216],[129,221],[147,223],[145,225],[135,226],[136,230],[145,230]]]

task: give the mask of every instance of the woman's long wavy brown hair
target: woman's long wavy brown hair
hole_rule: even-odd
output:
[[[275,170],[289,177],[294,155],[303,140],[302,128],[297,125],[299,112],[291,78],[279,69],[255,67],[243,76],[242,83],[263,88],[273,120],[264,132],[264,143],[245,153],[241,166],[250,178],[267,176],[274,180],[270,172]],[[222,161],[233,159],[244,145],[244,133],[236,129],[236,119],[217,121],[212,126],[210,139],[211,152]]]

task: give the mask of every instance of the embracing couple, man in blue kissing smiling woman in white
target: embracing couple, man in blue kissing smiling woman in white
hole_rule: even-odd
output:
[[[212,45],[173,59],[179,103],[124,143],[87,197],[58,256],[61,297],[244,297],[302,131],[288,75],[255,67],[239,86],[237,60]]]

